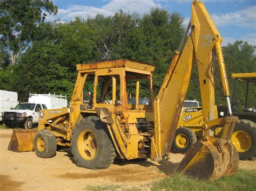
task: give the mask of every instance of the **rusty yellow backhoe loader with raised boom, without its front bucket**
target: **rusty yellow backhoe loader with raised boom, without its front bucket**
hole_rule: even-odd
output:
[[[168,159],[192,65],[197,62],[205,136],[192,146],[176,171],[212,180],[235,173],[239,158],[231,135],[238,117],[232,116],[222,41],[204,4],[193,1],[191,21],[155,98],[152,65],[130,60],[77,65],[70,108],[39,112],[36,154],[49,158],[55,155],[56,145],[71,146],[76,164],[91,169],[107,168],[116,157]],[[228,105],[228,116],[223,118],[214,112],[215,55]],[[142,88],[148,88],[151,95],[149,105],[139,104]],[[135,104],[127,102],[130,94]],[[213,137],[216,127],[223,127],[219,138]]]

